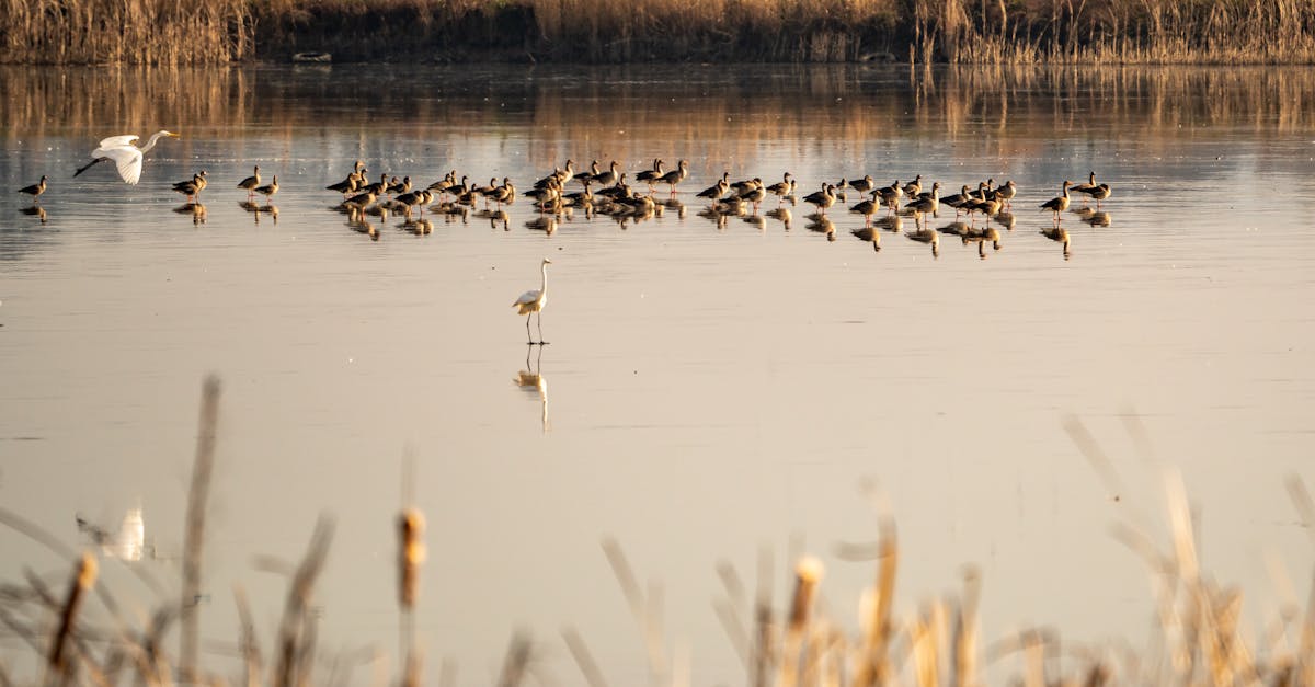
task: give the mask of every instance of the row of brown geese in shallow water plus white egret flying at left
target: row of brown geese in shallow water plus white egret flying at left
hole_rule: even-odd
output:
[[[135,184],[141,179],[143,154],[151,150],[163,138],[178,138],[179,134],[171,132],[156,132],[146,145],[138,147],[137,136],[113,136],[105,138],[92,151],[92,161],[79,167],[74,176],[87,171],[99,162],[114,162],[120,178],[125,183]],[[341,195],[341,199],[331,207],[347,216],[347,225],[356,232],[367,234],[372,240],[380,238],[379,226],[385,224],[391,216],[401,217],[401,229],[427,234],[433,232],[431,217],[443,217],[452,222],[460,220],[467,222],[471,216],[488,220],[493,226],[501,225],[510,229],[510,217],[506,207],[517,199],[527,199],[534,208],[534,217],[525,222],[527,229],[540,230],[547,234],[556,232],[562,222],[572,221],[577,213],[586,218],[605,216],[615,220],[622,228],[631,222],[640,222],[652,217],[663,216],[675,211],[681,218],[686,215],[686,204],[680,200],[679,187],[689,176],[689,163],[679,161],[675,168],[667,168],[663,159],[654,159],[650,168],[634,174],[634,186],[630,172],[623,170],[621,163],[611,163],[602,168],[598,161],[593,161],[588,170],[576,170],[573,161],[567,161],[563,167],[542,179],[535,180],[530,187],[518,190],[512,179],[504,176],[498,180],[490,178],[488,184],[479,186],[471,183],[469,175],[458,176],[456,171],[447,172],[442,179],[429,186],[418,186],[412,178],[398,179],[389,172],[381,172],[375,179],[362,161],[356,161],[352,171],[341,182],[326,186],[326,190]],[[185,203],[175,212],[191,215],[193,222],[200,224],[206,220],[206,208],[200,201],[201,192],[209,184],[209,175],[200,170],[191,179],[172,184],[172,190],[184,196]],[[49,176],[42,176],[36,184],[20,188],[20,193],[32,196],[32,205],[22,208],[28,215],[37,215],[46,221],[46,211],[41,207],[41,195],[49,187]],[[262,176],[260,167],[255,166],[252,174],[235,184],[239,191],[246,191],[246,200],[239,201],[239,207],[255,215],[255,221],[260,221],[262,215],[267,215],[277,221],[279,208],[272,203],[279,192],[279,178],[272,175],[268,182]],[[659,188],[665,187],[667,193],[659,193]],[[942,195],[942,183],[923,183],[922,175],[917,175],[909,183],[896,180],[890,186],[881,186],[871,174],[863,178],[840,179],[835,183],[822,182],[815,191],[803,193],[790,172],[785,172],[780,182],[765,183],[761,176],[732,182],[730,172],[723,172],[713,186],[694,193],[701,203],[697,215],[714,221],[718,229],[726,229],[731,218],[740,218],[759,229],[767,228],[767,220],[780,221],[786,230],[793,226],[794,212],[800,203],[810,205],[813,212],[803,216],[805,226],[813,232],[823,233],[831,241],[835,240],[836,226],[834,221],[835,205],[848,205],[849,193],[856,195],[856,203],[848,205],[848,212],[864,218],[863,226],[851,233],[872,243],[873,250],[881,250],[882,232],[903,233],[909,240],[931,246],[932,255],[940,254],[943,236],[956,236],[964,245],[974,243],[978,255],[985,258],[985,245],[990,243],[995,250],[1001,249],[1001,230],[1011,232],[1015,226],[1014,199],[1018,187],[1013,180],[997,186],[994,179],[976,182],[976,184],[963,184],[959,192]],[[1107,226],[1110,215],[1101,207],[1102,201],[1110,197],[1110,184],[1097,183],[1095,172],[1090,172],[1086,183],[1073,184],[1064,180],[1060,184],[1060,193],[1039,204],[1041,212],[1052,213],[1052,222],[1040,230],[1043,236],[1060,242],[1064,246],[1064,257],[1070,255],[1072,238],[1063,226],[1063,216],[1072,205],[1072,196],[1081,195],[1081,203],[1073,208],[1084,221],[1093,226]],[[800,197],[800,193],[803,193]],[[258,196],[264,196],[264,201],[258,201]],[[776,200],[775,207],[763,212],[763,203]],[[1094,207],[1089,204],[1094,201]],[[955,211],[952,221],[932,226],[930,217],[940,217],[942,213]],[[429,217],[426,217],[429,212]],[[905,221],[913,220],[913,226],[905,229]],[[982,224],[978,224],[982,220]]]

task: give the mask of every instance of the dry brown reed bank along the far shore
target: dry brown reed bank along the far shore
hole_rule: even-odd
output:
[[[11,0],[0,62],[1315,62],[1315,0]],[[1227,39],[1223,39],[1227,37]]]

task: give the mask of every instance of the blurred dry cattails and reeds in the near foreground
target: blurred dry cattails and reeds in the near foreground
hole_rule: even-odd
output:
[[[203,390],[200,432],[188,497],[188,524],[184,557],[199,563],[204,530],[204,511],[209,472],[214,459],[220,384],[206,379]],[[1090,461],[1094,472],[1114,494],[1127,492],[1112,463],[1098,442],[1076,419],[1064,426],[1074,445]],[[1130,419],[1130,432],[1144,428]],[[406,483],[406,482],[404,482]],[[1298,517],[1315,526],[1315,501],[1306,486],[1291,478],[1289,494]],[[877,512],[880,495],[868,490]],[[1168,521],[1172,540],[1164,547],[1155,544],[1141,526],[1119,522],[1115,534],[1140,555],[1156,590],[1159,634],[1151,646],[1080,646],[1061,644],[1057,630],[1031,628],[984,644],[978,630],[978,600],[982,580],[974,569],[963,576],[963,590],[923,603],[917,609],[896,603],[899,545],[890,517],[880,517],[878,542],[868,557],[873,561],[873,582],[851,608],[857,611],[859,630],[848,632],[838,619],[815,607],[825,583],[822,563],[803,557],[794,567],[789,591],[778,599],[772,590],[771,562],[761,557],[757,590],[751,596],[739,572],[718,567],[725,598],[714,607],[726,634],[744,666],[751,687],[873,687],[886,684],[976,686],[985,679],[988,663],[1016,655],[1013,682],[1028,687],[1052,684],[1312,684],[1315,683],[1315,574],[1308,598],[1282,601],[1277,620],[1268,625],[1258,642],[1243,629],[1243,592],[1223,587],[1201,569],[1193,515],[1180,479],[1166,480]],[[1136,512],[1137,509],[1132,509]],[[180,583],[183,598],[158,599],[147,620],[132,620],[122,612],[112,590],[97,582],[97,562],[89,553],[76,554],[55,537],[0,509],[0,524],[45,544],[66,558],[72,572],[64,579],[66,592],[58,594],[43,578],[28,572],[22,583],[0,586],[0,628],[26,642],[43,666],[42,682],[63,684],[174,684],[175,676],[196,684],[348,684],[347,657],[320,655],[316,623],[308,609],[314,603],[316,582],[333,538],[333,526],[321,520],[300,565],[289,575],[283,619],[271,646],[262,648],[245,594],[235,590],[242,626],[234,630],[241,653],[239,674],[225,675],[199,662],[195,636],[200,607],[189,600],[200,584],[199,567],[184,565]],[[425,558],[423,517],[404,507],[397,519],[397,595],[400,638],[393,665],[401,666],[394,680],[405,686],[425,683],[422,658],[417,651],[414,613],[419,590],[419,567]],[[1315,544],[1315,536],[1312,536]],[[661,590],[643,587],[622,547],[605,540],[604,554],[617,576],[622,595],[639,624],[646,645],[652,684],[692,684],[688,657],[672,651],[663,625]],[[852,551],[848,554],[855,555]],[[196,575],[196,576],[193,576]],[[784,601],[784,605],[777,605]],[[108,621],[96,623],[87,613],[99,603]],[[181,649],[175,659],[166,649],[175,620],[181,619]],[[608,680],[589,653],[585,638],[573,628],[563,640],[590,687],[606,687]],[[513,634],[497,684],[513,687],[527,682],[539,644],[527,633]],[[377,651],[376,651],[377,655]],[[446,670],[441,683],[452,674]],[[0,684],[14,684],[22,676],[0,665]],[[377,675],[376,675],[376,683]]]

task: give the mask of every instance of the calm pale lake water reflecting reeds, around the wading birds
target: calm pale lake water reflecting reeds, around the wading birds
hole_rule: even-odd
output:
[[[752,586],[772,551],[780,599],[785,559],[814,553],[822,607],[852,628],[873,563],[836,545],[876,538],[869,482],[899,528],[897,613],[974,563],[988,640],[1044,624],[1139,644],[1152,587],[1110,525],[1168,546],[1166,469],[1249,626],[1286,601],[1270,561],[1306,588],[1310,532],[1283,480],[1315,487],[1310,70],[3,68],[0,84],[0,505],[70,545],[85,544],[75,513],[112,529],[141,507],[156,559],[133,565],[176,590],[201,379],[220,375],[214,670],[237,671],[233,584],[268,642],[285,579],[258,557],[297,559],[322,513],[322,653],[396,655],[408,495],[427,519],[427,670],[447,661],[459,684],[490,682],[518,628],[537,670],[577,683],[568,625],[610,680],[644,679],[604,537],[661,590],[693,682],[740,683],[717,566]],[[108,165],[71,178],[100,138],[162,128],[183,138],[147,154],[139,186]],[[568,158],[633,176],[658,157],[689,161],[684,211],[576,212],[551,233],[522,197],[505,221],[433,215],[421,236],[371,218],[371,241],[323,188],[355,159],[526,190]],[[254,165],[279,176],[276,217],[234,188]],[[200,168],[204,217],[170,191]],[[1038,205],[1091,170],[1114,188],[1109,221],[1066,212],[1065,251]],[[789,225],[767,216],[775,199],[705,217],[694,193],[723,171],[790,171],[801,197],[864,174],[1019,191],[999,250],[945,236],[934,257],[902,236],[911,217],[880,250],[855,237],[852,191],[832,232],[803,203]],[[13,192],[42,174],[43,217]],[[527,347],[510,304],[544,257],[551,344]],[[0,579],[24,566],[68,569],[0,529]],[[153,607],[125,566],[105,575]],[[26,651],[0,640],[0,661]]]

